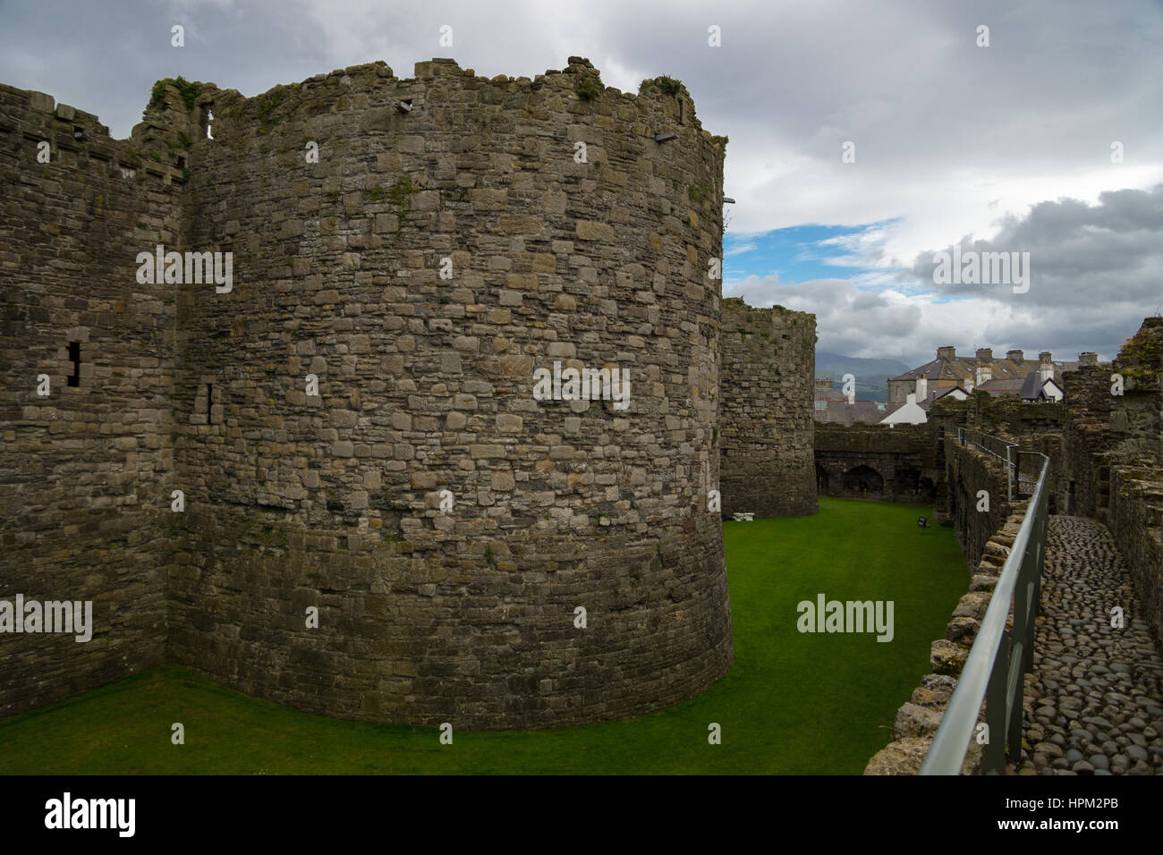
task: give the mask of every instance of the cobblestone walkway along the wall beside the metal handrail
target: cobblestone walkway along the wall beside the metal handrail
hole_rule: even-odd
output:
[[[1018,774],[1163,774],[1163,658],[1140,608],[1106,526],[1050,516]]]

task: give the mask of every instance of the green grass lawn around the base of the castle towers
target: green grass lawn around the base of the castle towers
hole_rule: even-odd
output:
[[[725,523],[735,664],[700,697],[632,721],[462,731],[442,746],[435,728],[312,715],[166,667],[0,722],[0,772],[857,775],[968,584],[952,529],[918,528],[920,514],[821,498],[815,516]],[[893,600],[893,640],[800,634],[795,606],[818,593]]]

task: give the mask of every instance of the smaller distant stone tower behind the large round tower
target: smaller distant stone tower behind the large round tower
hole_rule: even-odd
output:
[[[812,401],[815,316],[722,301],[721,492],[726,514],[819,511]]]

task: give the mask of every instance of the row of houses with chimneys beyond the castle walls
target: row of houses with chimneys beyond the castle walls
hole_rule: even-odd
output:
[[[940,347],[935,359],[889,378],[887,401],[849,401],[833,387],[832,379],[816,379],[815,420],[920,425],[927,420],[933,401],[947,394],[964,400],[973,391],[996,397],[1015,394],[1028,404],[1061,401],[1063,372],[1097,362],[1093,352],[1078,354],[1077,362],[1055,362],[1048,350],[1036,361],[1027,359],[1022,350],[1007,350],[1004,359],[994,359],[990,348],[979,348],[975,356],[957,356],[956,348]]]

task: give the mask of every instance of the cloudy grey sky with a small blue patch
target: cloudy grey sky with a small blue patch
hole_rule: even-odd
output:
[[[730,137],[725,293],[814,312],[822,350],[1111,358],[1163,313],[1158,0],[0,0],[0,81],[119,137],[162,77],[256,95],[374,59],[533,77],[573,55],[623,91],[686,84]],[[954,244],[1016,252],[1028,282],[937,283]]]

